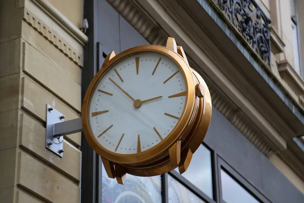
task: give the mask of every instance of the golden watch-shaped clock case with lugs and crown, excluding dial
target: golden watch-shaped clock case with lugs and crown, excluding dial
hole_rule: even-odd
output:
[[[181,117],[170,134],[158,145],[136,154],[118,154],[103,148],[93,136],[89,125],[91,97],[103,75],[113,64],[138,52],[158,52],[171,58],[180,68],[186,82],[186,102]],[[82,124],[90,146],[101,156],[109,178],[124,184],[126,173],[135,176],[156,176],[178,167],[180,174],[189,166],[193,153],[203,142],[211,120],[211,96],[203,78],[189,66],[181,46],[168,38],[166,47],[143,45],[115,55],[111,52],[91,81],[84,97]]]

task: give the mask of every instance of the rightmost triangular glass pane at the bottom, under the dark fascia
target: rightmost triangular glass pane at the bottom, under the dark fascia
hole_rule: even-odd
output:
[[[221,170],[222,198],[227,203],[258,203],[247,190],[237,183],[231,176]]]

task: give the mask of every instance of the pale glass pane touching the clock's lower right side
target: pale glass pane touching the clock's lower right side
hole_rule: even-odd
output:
[[[178,172],[178,168],[175,168],[175,171]],[[182,176],[213,199],[211,152],[204,145],[194,153],[187,171]]]

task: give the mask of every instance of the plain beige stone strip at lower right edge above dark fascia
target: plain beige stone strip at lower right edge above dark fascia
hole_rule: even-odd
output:
[[[300,179],[278,155],[273,154],[270,157],[270,161],[300,192],[304,194],[304,180]]]

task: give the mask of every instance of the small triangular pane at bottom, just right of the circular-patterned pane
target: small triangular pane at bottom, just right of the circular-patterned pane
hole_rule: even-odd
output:
[[[205,202],[171,176],[168,176],[168,199],[169,203]]]

